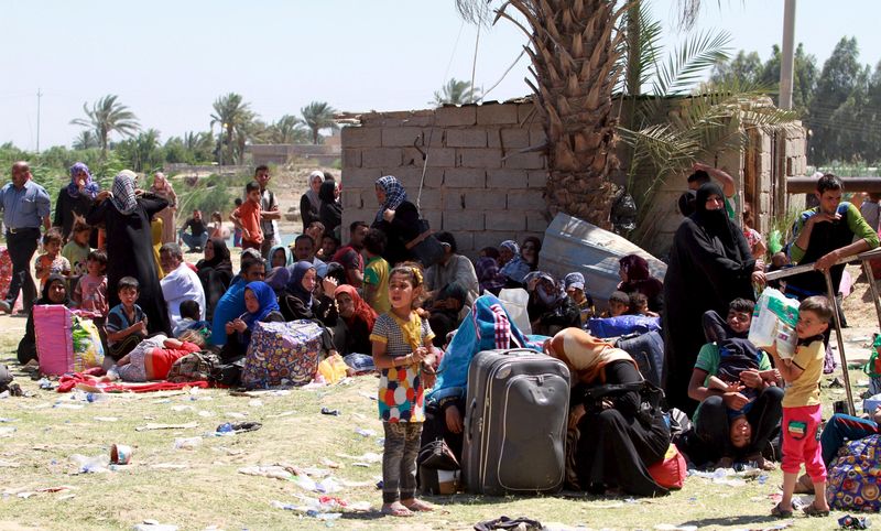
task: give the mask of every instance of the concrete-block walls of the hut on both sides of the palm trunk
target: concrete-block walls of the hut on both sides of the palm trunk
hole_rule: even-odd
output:
[[[532,102],[370,112],[358,120],[359,126],[341,131],[344,227],[372,221],[379,208],[373,183],[382,175],[396,176],[415,203],[427,154],[422,215],[434,229],[455,234],[464,254],[474,258],[481,248],[505,239],[543,237],[550,224],[544,198],[547,163],[539,152],[521,152],[545,141]],[[754,191],[758,228],[765,232],[772,218],[797,201],[786,196],[785,177],[805,171],[805,130],[798,121],[744,128],[744,150],[707,154],[705,160],[735,177],[741,204],[744,191]],[[623,170],[629,163],[626,152],[619,149],[618,154]],[[657,257],[666,256],[682,223],[676,199],[687,184],[686,174],[681,177],[660,183],[649,206],[650,227],[641,246]],[[612,180],[624,182],[622,174]]]

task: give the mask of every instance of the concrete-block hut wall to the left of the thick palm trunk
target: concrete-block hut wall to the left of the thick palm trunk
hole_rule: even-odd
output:
[[[394,175],[411,202],[418,197],[432,228],[456,236],[463,254],[474,258],[507,239],[541,238],[550,223],[547,163],[539,152],[520,151],[544,138],[529,102],[361,115],[360,126],[341,131],[344,227],[372,223],[379,209],[374,182]]]

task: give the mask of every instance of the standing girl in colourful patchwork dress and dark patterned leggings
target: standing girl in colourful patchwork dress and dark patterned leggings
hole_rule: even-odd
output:
[[[399,266],[389,274],[391,310],[380,315],[370,334],[373,364],[380,371],[379,414],[385,431],[382,453],[382,512],[409,517],[429,511],[416,499],[416,455],[422,423],[425,379],[433,380],[432,332],[414,310],[422,292],[417,267]]]

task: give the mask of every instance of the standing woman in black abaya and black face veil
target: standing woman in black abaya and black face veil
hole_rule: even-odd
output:
[[[719,185],[700,186],[695,213],[682,221],[673,238],[664,277],[667,404],[692,415],[697,402],[688,398],[688,380],[706,343],[704,312],[727,315],[732,300],[754,301],[752,283],[764,283],[763,268],[761,260],[752,258],[743,232],[728,218]]]

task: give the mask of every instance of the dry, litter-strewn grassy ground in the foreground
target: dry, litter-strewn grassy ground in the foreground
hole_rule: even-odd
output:
[[[873,315],[871,306],[866,313]],[[0,318],[0,362],[13,364],[12,353],[23,326],[24,319]],[[847,343],[851,359],[864,359],[860,338],[871,329],[873,324],[845,334],[851,339]],[[856,370],[851,378],[855,383],[866,379]],[[193,530],[467,530],[502,514],[530,517],[545,525],[556,522],[557,529],[664,529],[657,528],[661,524],[766,529],[781,523],[769,516],[775,503],[772,497],[779,492],[780,472],[735,486],[689,477],[682,490],[657,499],[434,497],[428,498],[438,506],[433,513],[383,518],[377,511],[380,492],[373,487],[380,465],[356,466],[355,462],[365,458],[352,457],[382,452],[377,438],[382,426],[369,398],[377,386],[373,377],[284,395],[237,397],[213,389],[195,394],[117,394],[94,403],[40,390],[26,377],[17,381],[34,395],[0,400],[0,529],[132,529],[144,520],[155,520]],[[862,389],[856,388],[856,392]],[[841,393],[824,388],[824,402],[840,400]],[[341,414],[323,415],[323,407]],[[827,407],[826,416],[829,413]],[[230,437],[204,437],[194,449],[174,447],[176,438],[200,436],[218,424],[241,420],[263,426]],[[135,430],[148,423],[192,422],[197,427]],[[373,430],[377,435],[361,436],[358,429]],[[130,465],[105,474],[77,474],[73,455],[109,455],[113,443],[134,447]],[[329,468],[328,459],[340,466]],[[354,485],[336,496],[349,502],[368,501],[372,510],[346,512],[339,520],[323,522],[276,509],[273,500],[297,503],[298,495],[318,495],[293,481],[238,473],[241,467],[275,463],[328,469],[336,479]],[[63,486],[69,489],[39,491]],[[788,522],[792,529],[833,529],[840,516],[834,512],[825,519],[807,519],[796,514]]]

